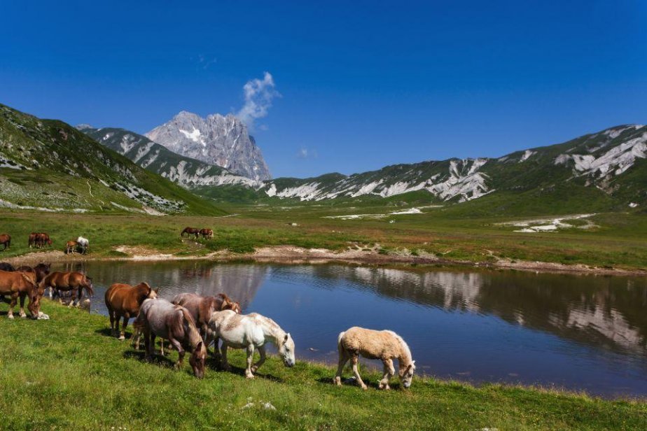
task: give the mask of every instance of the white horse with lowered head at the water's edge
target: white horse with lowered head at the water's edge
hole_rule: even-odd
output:
[[[253,373],[265,362],[265,344],[270,342],[277,346],[279,355],[286,367],[294,366],[294,341],[290,334],[277,325],[274,320],[257,313],[247,315],[237,314],[231,310],[214,311],[207,325],[207,339],[204,343],[209,346],[211,341],[223,340],[220,348],[223,369],[230,369],[227,363],[227,348],[246,348],[247,367],[245,377],[253,379]],[[252,365],[254,350],[258,349],[260,359]]]

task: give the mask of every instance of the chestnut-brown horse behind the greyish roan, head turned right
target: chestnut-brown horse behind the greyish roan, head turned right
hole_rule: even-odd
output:
[[[113,335],[119,333],[119,339],[125,339],[128,319],[137,317],[139,307],[144,299],[153,299],[158,296],[158,291],[153,290],[148,283],[139,283],[136,286],[130,284],[115,283],[106,290],[104,299],[110,316],[110,330]],[[119,332],[119,320],[123,317],[121,332]],[[134,337],[134,334],[133,334]]]

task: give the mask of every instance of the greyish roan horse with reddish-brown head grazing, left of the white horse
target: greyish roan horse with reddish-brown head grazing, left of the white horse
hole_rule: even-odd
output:
[[[204,347],[200,332],[187,309],[165,299],[146,299],[141,304],[134,326],[144,331],[146,360],[153,356],[156,336],[168,339],[178,351],[176,369],[181,369],[185,349],[188,349],[191,351],[189,364],[193,368],[193,374],[202,379],[207,348]]]

